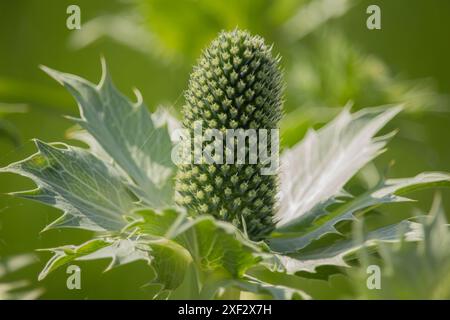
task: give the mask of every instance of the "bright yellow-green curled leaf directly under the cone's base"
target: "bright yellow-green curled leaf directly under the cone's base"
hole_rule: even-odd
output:
[[[190,218],[173,210],[162,213],[142,210],[137,214],[144,218],[138,225],[142,234],[177,242],[205,272],[220,270],[231,277],[240,277],[258,261],[256,253],[261,248],[229,223],[210,216]]]

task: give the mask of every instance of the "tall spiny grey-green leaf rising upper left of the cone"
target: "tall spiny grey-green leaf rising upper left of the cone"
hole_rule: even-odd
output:
[[[130,187],[148,205],[166,207],[173,201],[172,143],[167,126],[152,119],[140,94],[132,103],[114,87],[105,63],[98,85],[47,67],[44,71],[75,97],[80,119],[74,119],[131,178]]]

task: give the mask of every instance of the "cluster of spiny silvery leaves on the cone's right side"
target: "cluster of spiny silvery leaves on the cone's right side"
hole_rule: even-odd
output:
[[[398,112],[398,107],[354,114],[344,109],[328,125],[318,132],[310,131],[301,143],[285,151],[281,158],[280,222],[268,239],[272,250],[284,253],[272,261],[275,266],[294,274],[315,272],[325,265],[347,266],[345,258],[358,248],[398,241],[400,227],[408,232],[406,240],[421,238],[417,224],[408,221],[372,230],[359,243],[336,229],[338,224],[356,221],[382,204],[410,201],[402,197],[406,193],[450,186],[450,175],[427,172],[381,180],[356,196],[343,189],[359,169],[384,151],[392,135],[374,136]]]

